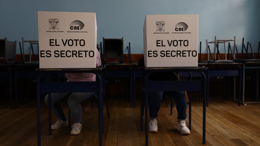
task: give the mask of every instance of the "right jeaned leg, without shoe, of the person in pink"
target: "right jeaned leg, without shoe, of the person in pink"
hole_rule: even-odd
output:
[[[82,110],[80,103],[95,95],[95,92],[71,93],[68,97],[68,106],[71,111],[73,122],[80,123],[82,120]]]

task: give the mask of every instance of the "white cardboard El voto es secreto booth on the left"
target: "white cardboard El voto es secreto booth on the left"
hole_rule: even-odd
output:
[[[95,13],[38,12],[39,68],[95,68]]]

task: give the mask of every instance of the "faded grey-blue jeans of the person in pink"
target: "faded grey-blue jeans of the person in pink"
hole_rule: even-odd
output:
[[[82,110],[80,103],[95,95],[95,92],[88,93],[51,93],[51,110],[57,116],[58,119],[64,119],[65,115],[61,108],[60,101],[68,97],[68,107],[71,111],[73,122],[82,122]],[[45,103],[48,106],[48,94],[44,98]]]

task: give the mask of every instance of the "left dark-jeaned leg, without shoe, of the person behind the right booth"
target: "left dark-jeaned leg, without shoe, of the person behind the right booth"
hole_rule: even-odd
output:
[[[149,115],[150,120],[157,119],[158,112],[162,103],[163,91],[149,92],[150,102],[149,102]]]

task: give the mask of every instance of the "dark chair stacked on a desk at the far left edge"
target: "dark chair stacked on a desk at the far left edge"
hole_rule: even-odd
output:
[[[16,57],[17,41],[7,41],[7,38],[0,39],[0,59],[5,63],[14,63]]]

